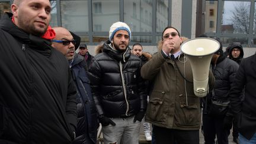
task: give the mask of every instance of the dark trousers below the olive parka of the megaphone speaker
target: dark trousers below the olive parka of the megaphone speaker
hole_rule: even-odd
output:
[[[154,126],[157,144],[199,144],[199,130],[177,130]]]

